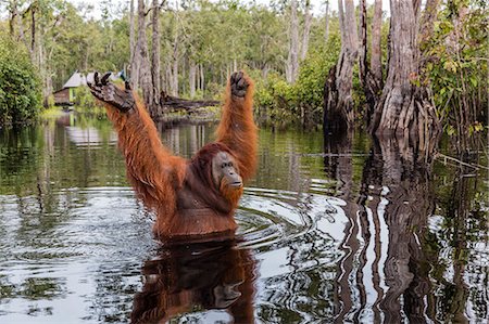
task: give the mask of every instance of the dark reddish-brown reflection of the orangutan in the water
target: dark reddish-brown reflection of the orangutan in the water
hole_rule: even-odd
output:
[[[226,310],[234,323],[253,323],[254,260],[235,242],[162,248],[142,267],[145,285],[131,323],[165,323],[196,308]]]

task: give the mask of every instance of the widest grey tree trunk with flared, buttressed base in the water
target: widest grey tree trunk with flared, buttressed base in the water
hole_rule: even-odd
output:
[[[418,80],[417,0],[390,1],[389,69],[374,112],[372,130],[378,135],[410,137],[423,152],[438,139],[439,122],[427,91]]]

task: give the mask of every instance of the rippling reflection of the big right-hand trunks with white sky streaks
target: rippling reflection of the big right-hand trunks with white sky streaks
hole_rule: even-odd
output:
[[[338,263],[337,322],[359,321],[369,309],[368,321],[380,322],[384,313],[386,323],[399,323],[401,306],[411,322],[424,322],[430,285],[428,256],[421,244],[434,210],[429,166],[415,163],[416,154],[405,143],[375,141],[356,198],[351,138],[325,144],[326,170],[338,180],[337,196],[347,202],[349,218],[340,247],[344,256]]]

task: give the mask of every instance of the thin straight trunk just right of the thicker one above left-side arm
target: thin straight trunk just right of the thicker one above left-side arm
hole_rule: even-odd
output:
[[[151,77],[153,81],[153,107],[152,112],[160,111],[161,93],[161,55],[160,55],[160,4],[158,0],[152,1],[152,52],[151,52]]]

